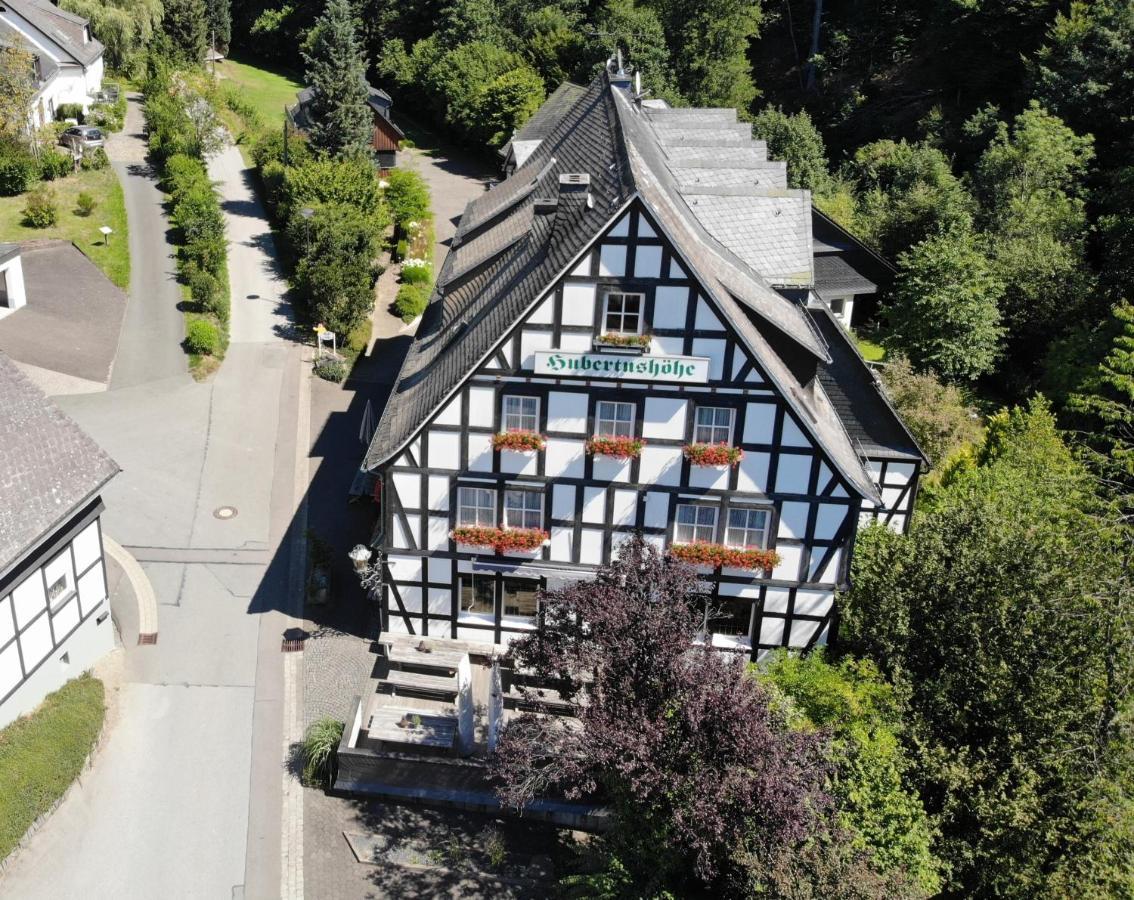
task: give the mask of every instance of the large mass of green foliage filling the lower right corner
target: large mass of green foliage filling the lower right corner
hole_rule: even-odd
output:
[[[914,780],[955,895],[1125,895],[1129,585],[1042,402],[990,422],[908,536],[860,535],[845,637],[908,691]],[[1068,540],[1073,536],[1074,540]],[[1089,860],[1112,864],[1086,869]],[[1056,874],[1052,874],[1056,873]]]

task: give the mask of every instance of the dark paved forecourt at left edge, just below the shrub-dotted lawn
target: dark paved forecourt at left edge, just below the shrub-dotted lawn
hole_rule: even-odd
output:
[[[67,240],[20,245],[27,305],[0,319],[0,350],[50,394],[103,391],[126,295]]]

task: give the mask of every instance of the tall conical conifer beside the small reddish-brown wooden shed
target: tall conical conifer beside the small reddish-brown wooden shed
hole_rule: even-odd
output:
[[[336,156],[364,153],[373,134],[366,103],[366,58],[349,0],[330,0],[303,52],[314,88],[311,144]]]

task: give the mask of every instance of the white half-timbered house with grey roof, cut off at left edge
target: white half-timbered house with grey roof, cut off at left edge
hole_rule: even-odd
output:
[[[118,470],[0,354],[0,728],[115,645],[99,494]]]

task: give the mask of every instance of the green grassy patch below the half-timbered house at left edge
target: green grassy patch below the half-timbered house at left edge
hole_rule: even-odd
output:
[[[0,730],[0,859],[82,771],[104,713],[102,682],[84,674]]]

